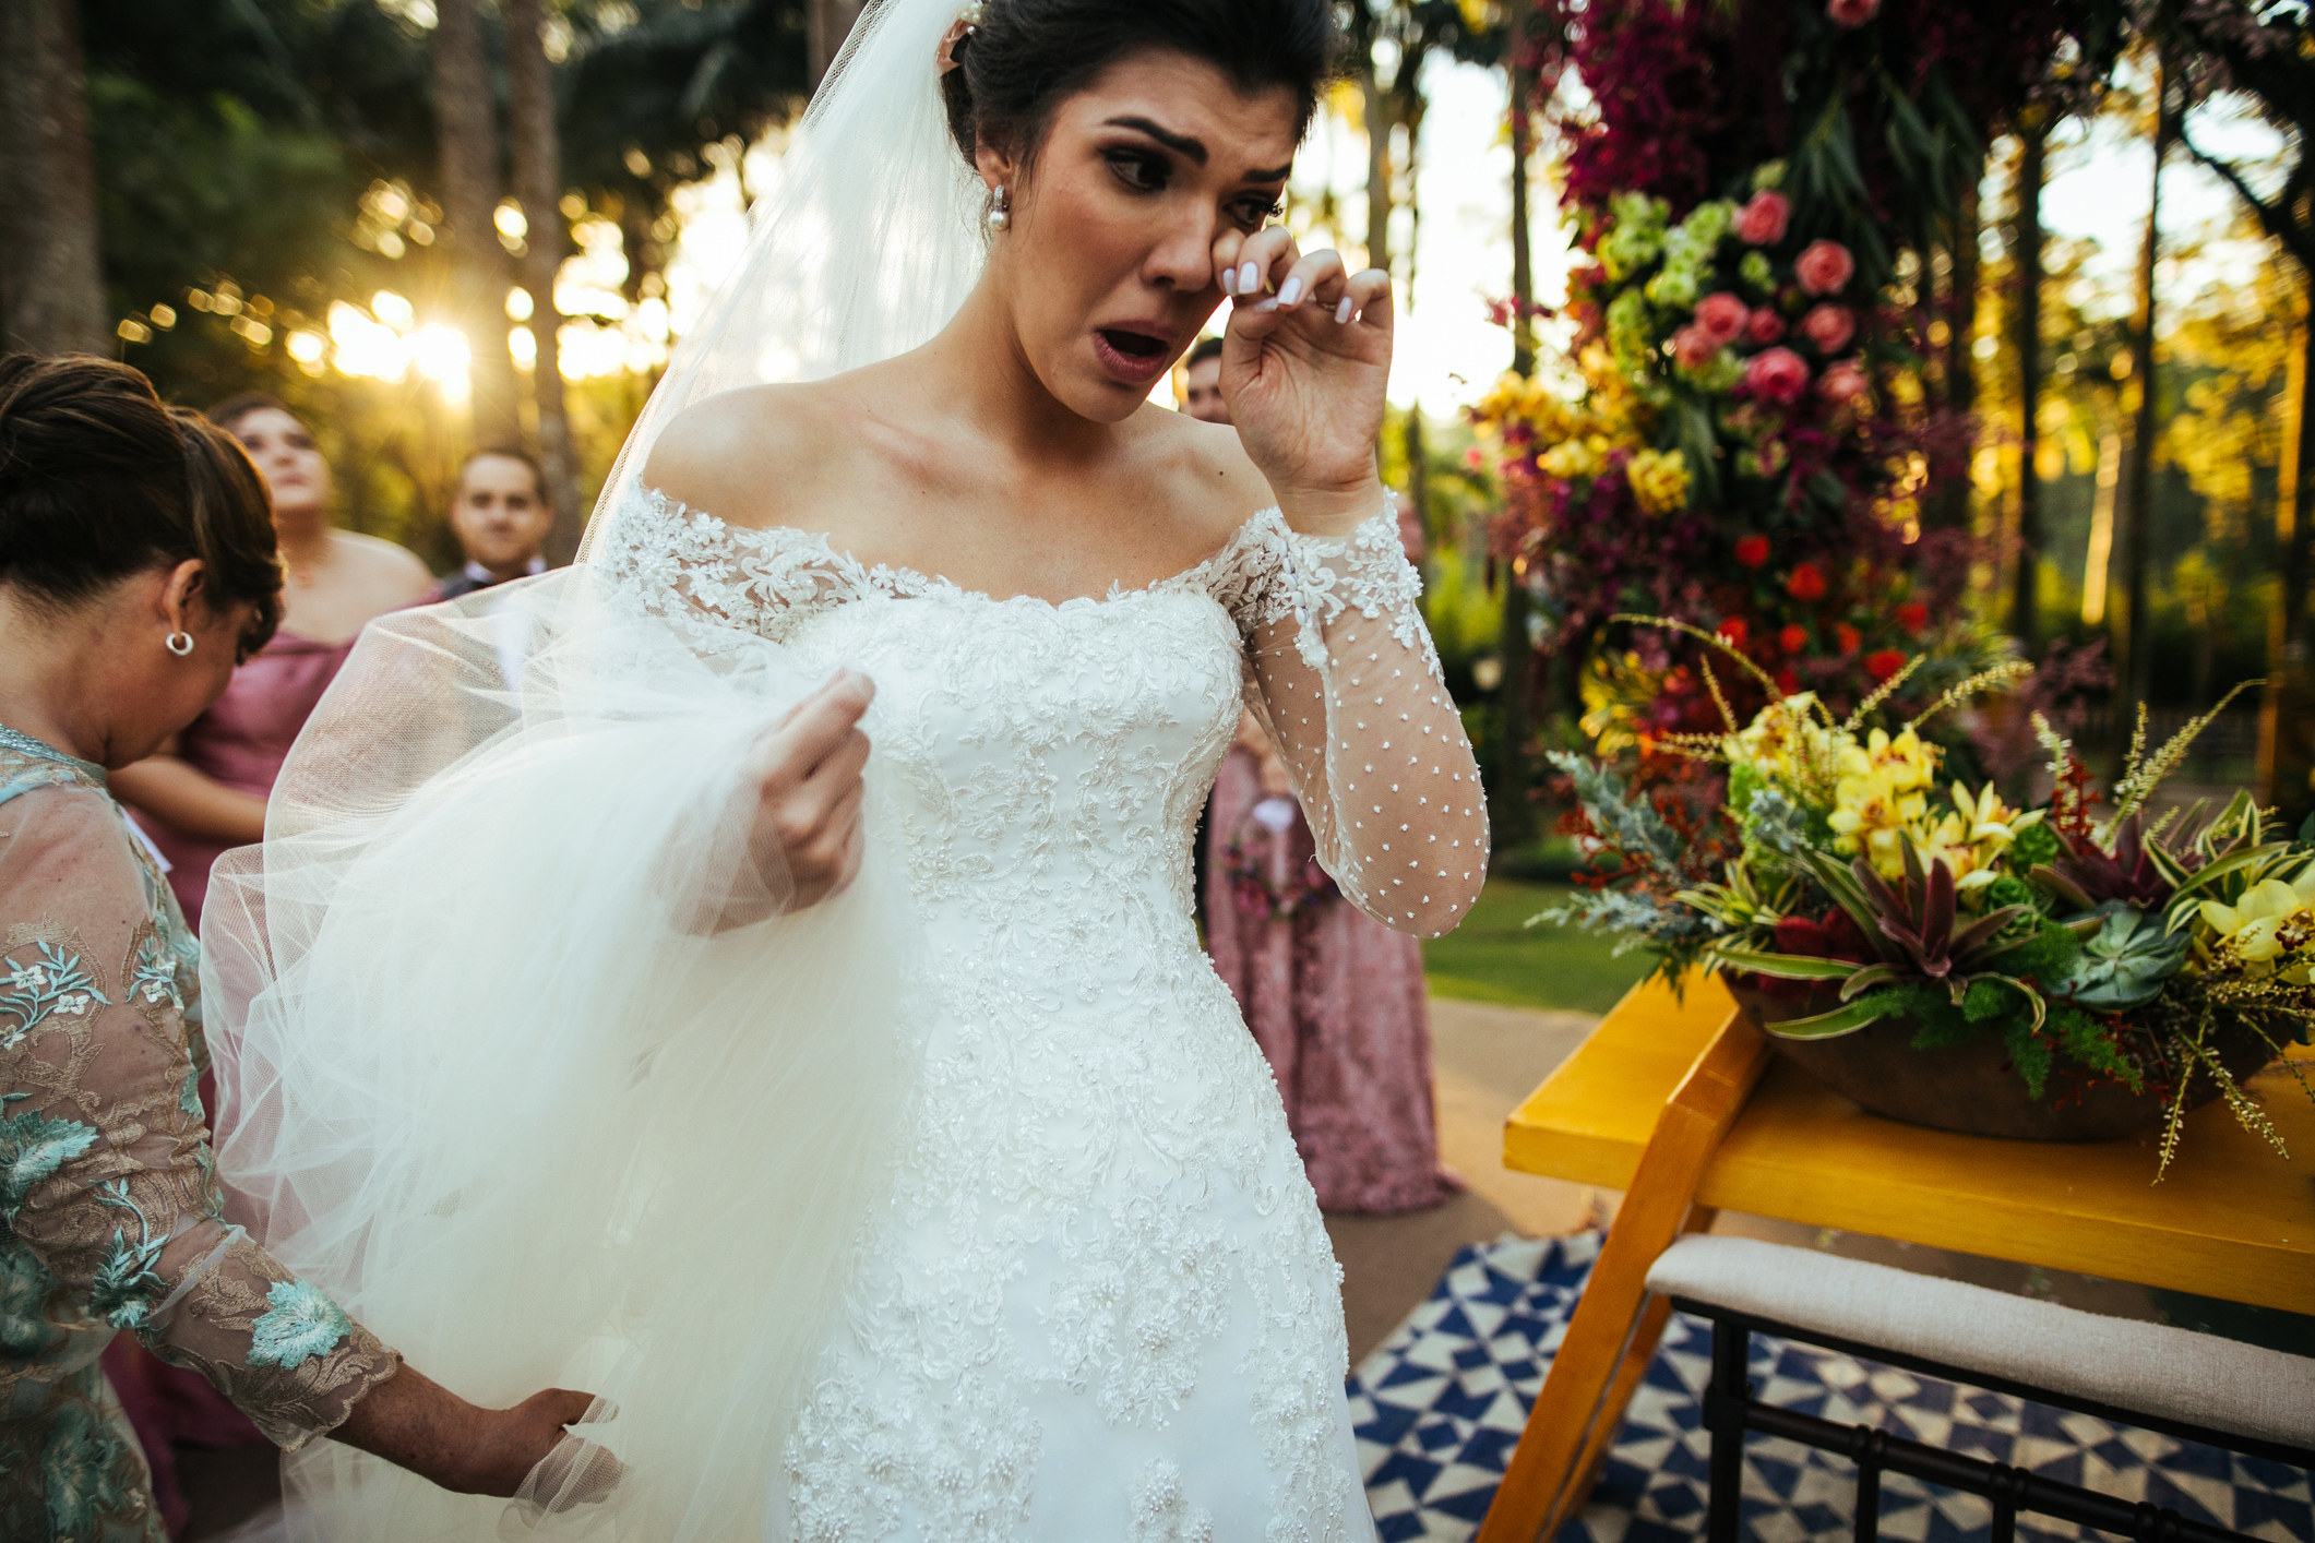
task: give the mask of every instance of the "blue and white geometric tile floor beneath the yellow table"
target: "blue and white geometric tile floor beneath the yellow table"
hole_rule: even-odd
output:
[[[1479,1529],[1597,1254],[1597,1233],[1465,1247],[1431,1300],[1359,1365],[1350,1413],[1384,1543],[1458,1543]],[[1556,1543],[1704,1536],[1708,1376],[1711,1330],[1676,1314],[1590,1506]],[[1766,1337],[1752,1342],[1752,1379],[1785,1409],[2153,1501],[2266,1543],[2315,1543],[2315,1497],[2301,1469]],[[1845,1457],[1762,1437],[1746,1444],[1748,1538],[1850,1538],[1854,1494]],[[1989,1520],[1975,1494],[1882,1478],[1880,1536],[1891,1543],[1984,1538]],[[2049,1518],[2021,1518],[2019,1536],[2104,1538]]]

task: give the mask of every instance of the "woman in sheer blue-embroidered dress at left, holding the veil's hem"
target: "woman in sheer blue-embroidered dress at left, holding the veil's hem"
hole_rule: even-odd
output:
[[[278,1446],[331,1434],[477,1494],[593,1402],[477,1409],[222,1217],[188,1097],[199,944],[106,768],[227,689],[280,583],[232,437],[127,366],[0,359],[0,1538],[169,1536],[97,1369],[120,1330]]]

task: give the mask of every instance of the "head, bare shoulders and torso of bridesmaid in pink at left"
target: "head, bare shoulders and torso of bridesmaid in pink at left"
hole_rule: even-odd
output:
[[[169,888],[201,925],[208,865],[266,833],[266,793],[361,629],[426,599],[433,574],[412,553],[329,523],[329,463],[313,430],[271,396],[236,396],[208,412],[257,463],[280,537],[282,625],[234,671],[218,703],[113,789],[137,807],[169,858]]]

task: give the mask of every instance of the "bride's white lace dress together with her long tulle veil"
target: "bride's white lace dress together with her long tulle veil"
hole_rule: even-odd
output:
[[[266,844],[220,863],[238,1215],[468,1397],[602,1395],[512,1508],[317,1444],[296,1536],[1373,1534],[1338,1270],[1197,946],[1190,842],[1245,703],[1345,898],[1440,932],[1477,895],[1484,803],[1396,521],[1264,511],[1053,604],[639,479],[706,391],[954,310],[951,16],[866,12],[586,560],[493,592],[530,622],[521,680],[465,601],[375,622]],[[727,895],[782,898],[748,747],[836,666],[877,687],[863,872],[720,930]]]

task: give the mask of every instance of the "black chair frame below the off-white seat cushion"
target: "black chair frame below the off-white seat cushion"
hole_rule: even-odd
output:
[[[1921,1372],[1926,1376],[1963,1383],[1968,1388],[2009,1393],[2037,1404],[2072,1409],[2114,1425],[2137,1425],[2139,1430],[2153,1430],[2181,1441],[2218,1446],[2296,1469],[2315,1469],[2315,1448],[2257,1441],[2130,1409],[2114,1409],[2090,1400],[2051,1393],[2049,1388],[1989,1376],[1986,1372],[1968,1372],[1963,1367],[1940,1365],[1919,1356],[1903,1356],[1898,1351],[1840,1339],[1810,1328],[1732,1312],[1727,1307],[1715,1307],[1713,1302],[1697,1302],[1676,1295],[1671,1298],[1671,1305],[1681,1312],[1706,1319],[1713,1326],[1713,1376],[1704,1388],[1704,1430],[1711,1432],[1711,1501],[1704,1534],[1708,1543],[1736,1543],[1743,1531],[1743,1439],[1748,1432],[1799,1441],[1801,1446],[1813,1446],[1820,1453],[1838,1453],[1857,1464],[1857,1543],[1875,1543],[1880,1536],[1880,1476],[1884,1471],[1910,1474],[1949,1490],[1984,1494],[1993,1501],[1991,1543],[2014,1543],[2019,1511],[2060,1518],[2081,1527],[2097,1527],[2100,1531],[2121,1534],[2134,1543],[2257,1543],[2246,1534],[2211,1527],[2209,1522],[2195,1522],[2162,1506],[2144,1501],[2130,1504],[2111,1494],[2044,1478],[2005,1462],[1965,1457],[1938,1446],[1924,1446],[1921,1441],[1908,1441],[1905,1437],[1891,1437],[1889,1432],[1873,1430],[1871,1425],[1836,1425],[1833,1420],[1824,1420],[1813,1413],[1764,1404],[1752,1397],[1752,1381],[1748,1376],[1752,1335],[1776,1335],[1796,1344],[1840,1351],[1845,1356],[1857,1356],[1859,1360],[1903,1367],[1905,1372]]]

